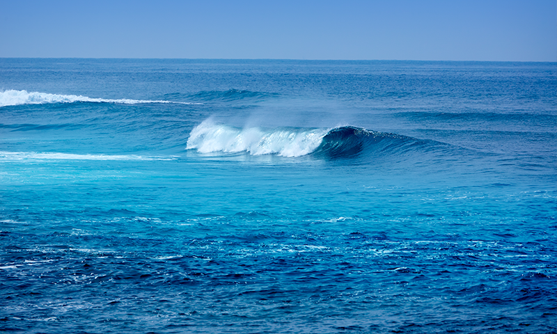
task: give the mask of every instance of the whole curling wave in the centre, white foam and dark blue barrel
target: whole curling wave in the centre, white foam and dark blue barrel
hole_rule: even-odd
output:
[[[373,132],[352,126],[334,129],[288,127],[241,129],[205,120],[191,130],[187,150],[196,149],[201,153],[277,154],[283,157],[313,154],[334,159],[354,157],[364,150],[402,153],[428,145],[428,143],[434,142],[421,141],[398,134]]]

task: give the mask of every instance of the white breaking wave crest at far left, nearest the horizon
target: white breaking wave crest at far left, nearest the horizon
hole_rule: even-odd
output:
[[[26,90],[5,90],[0,92],[0,106],[17,106],[21,104],[49,104],[49,103],[120,103],[120,104],[142,104],[142,103],[175,103],[194,104],[192,102],[171,102],[164,100],[130,100],[130,99],[97,99],[82,95],[60,95],[40,92],[27,92]]]

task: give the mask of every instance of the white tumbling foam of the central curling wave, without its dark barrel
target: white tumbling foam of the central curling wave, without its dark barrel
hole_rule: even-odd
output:
[[[278,154],[299,157],[313,152],[327,129],[239,129],[205,120],[196,126],[187,141],[187,150],[201,153],[249,152],[252,155]]]

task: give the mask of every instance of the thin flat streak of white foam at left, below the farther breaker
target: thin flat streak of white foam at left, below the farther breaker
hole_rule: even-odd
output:
[[[2,152],[0,161],[15,160],[174,160],[176,157],[142,157],[140,155],[68,154],[58,152]]]

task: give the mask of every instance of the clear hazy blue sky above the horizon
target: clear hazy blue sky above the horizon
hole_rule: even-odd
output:
[[[557,1],[0,0],[0,57],[557,61]]]

